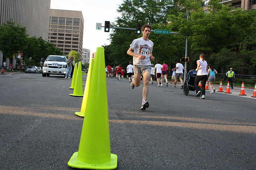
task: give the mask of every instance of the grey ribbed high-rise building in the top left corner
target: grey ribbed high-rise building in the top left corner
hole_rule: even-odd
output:
[[[0,0],[0,25],[12,20],[26,27],[29,37],[42,37],[48,41],[50,0]],[[15,65],[15,58],[12,65]],[[3,55],[0,53],[0,68]],[[9,67],[10,60],[6,59]]]

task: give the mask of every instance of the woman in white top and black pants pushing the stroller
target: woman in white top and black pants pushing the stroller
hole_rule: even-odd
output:
[[[195,87],[196,87],[196,96],[202,96],[200,97],[201,99],[205,98],[205,84],[207,81],[207,62],[204,60],[205,56],[204,54],[200,54],[199,56],[200,60],[196,61],[197,63],[197,74],[196,74],[196,78],[195,78]],[[202,84],[202,92],[200,91],[200,88],[198,86],[199,82],[201,81]]]

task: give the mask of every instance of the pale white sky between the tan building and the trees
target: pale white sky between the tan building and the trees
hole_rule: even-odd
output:
[[[71,3],[70,3],[71,2]],[[97,47],[109,45],[110,32],[96,29],[96,23],[114,22],[120,14],[116,11],[122,0],[51,0],[50,9],[82,11],[84,17],[83,48],[94,53]],[[111,25],[110,25],[111,26]],[[92,56],[92,55],[91,55]]]

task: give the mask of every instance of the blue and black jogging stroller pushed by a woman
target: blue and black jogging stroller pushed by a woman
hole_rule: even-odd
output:
[[[187,78],[186,78],[186,80],[184,82],[184,88],[183,88],[183,93],[185,95],[188,95],[189,90],[191,90],[191,91],[195,91],[196,90],[196,87],[195,87],[196,74],[197,74],[196,70],[190,70],[188,72]],[[199,88],[201,90],[200,86],[199,86]]]

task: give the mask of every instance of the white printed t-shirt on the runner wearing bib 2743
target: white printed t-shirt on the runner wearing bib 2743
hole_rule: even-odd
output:
[[[134,50],[135,54],[144,55],[146,58],[144,60],[139,59],[138,57],[133,57],[133,65],[139,66],[150,66],[150,56],[152,53],[154,43],[150,40],[146,41],[142,37],[134,39],[130,47]]]

